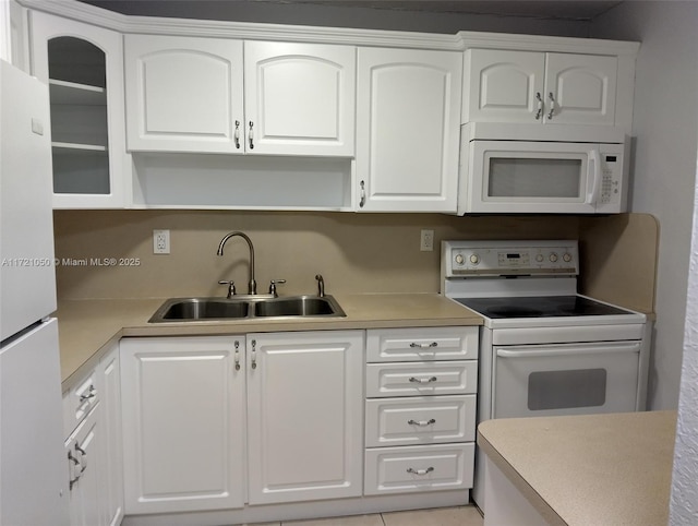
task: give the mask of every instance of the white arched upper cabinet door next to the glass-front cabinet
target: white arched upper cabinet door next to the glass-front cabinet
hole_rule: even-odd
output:
[[[127,35],[124,68],[129,150],[244,151],[242,40]]]

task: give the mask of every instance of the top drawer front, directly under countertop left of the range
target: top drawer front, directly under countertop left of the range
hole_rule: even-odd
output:
[[[366,331],[366,360],[430,361],[478,358],[478,327],[376,328]]]

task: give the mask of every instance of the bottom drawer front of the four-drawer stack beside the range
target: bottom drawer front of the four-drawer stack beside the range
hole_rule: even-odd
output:
[[[366,450],[364,494],[472,488],[474,443]]]

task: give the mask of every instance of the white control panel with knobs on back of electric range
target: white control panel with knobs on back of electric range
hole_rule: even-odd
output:
[[[444,277],[579,274],[576,240],[443,241]]]

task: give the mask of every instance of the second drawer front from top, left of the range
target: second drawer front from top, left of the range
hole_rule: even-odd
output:
[[[366,397],[469,394],[478,390],[478,362],[369,363]]]

